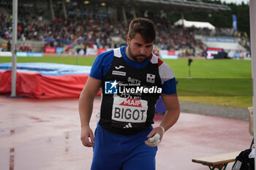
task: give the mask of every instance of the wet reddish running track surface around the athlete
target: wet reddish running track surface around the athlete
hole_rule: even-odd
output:
[[[99,98],[91,128],[97,125]],[[90,169],[92,148],[80,142],[78,98],[43,99],[0,96],[1,169]],[[162,119],[155,117],[155,125]],[[192,158],[245,150],[249,123],[182,112],[159,144],[157,170],[208,169]],[[228,164],[231,169],[233,163]]]

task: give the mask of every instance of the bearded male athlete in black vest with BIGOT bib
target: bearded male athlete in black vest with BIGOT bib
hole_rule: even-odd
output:
[[[100,54],[80,93],[81,141],[94,147],[92,170],[154,170],[157,145],[178,120],[176,80],[170,66],[152,54],[154,23],[135,18],[129,24],[127,46]],[[102,103],[94,133],[89,126],[99,88]],[[159,96],[165,116],[153,128]]]

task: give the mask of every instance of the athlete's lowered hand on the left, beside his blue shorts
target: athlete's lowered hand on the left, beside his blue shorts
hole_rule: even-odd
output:
[[[89,126],[82,128],[81,141],[85,147],[94,147],[94,132]]]

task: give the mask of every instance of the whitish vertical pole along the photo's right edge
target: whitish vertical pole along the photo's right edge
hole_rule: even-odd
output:
[[[253,82],[253,96],[252,96],[252,105],[253,105],[253,121],[254,121],[254,139],[256,142],[256,1],[249,1],[249,12],[250,12],[250,33],[251,33],[251,56],[252,56],[252,82]],[[256,152],[255,152],[256,153]],[[255,154],[256,155],[256,154]],[[255,157],[256,162],[256,157]],[[256,169],[256,163],[255,163]]]

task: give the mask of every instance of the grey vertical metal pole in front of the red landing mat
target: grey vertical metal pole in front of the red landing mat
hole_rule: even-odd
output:
[[[12,0],[12,92],[16,96],[16,44],[17,44],[18,0]]]

